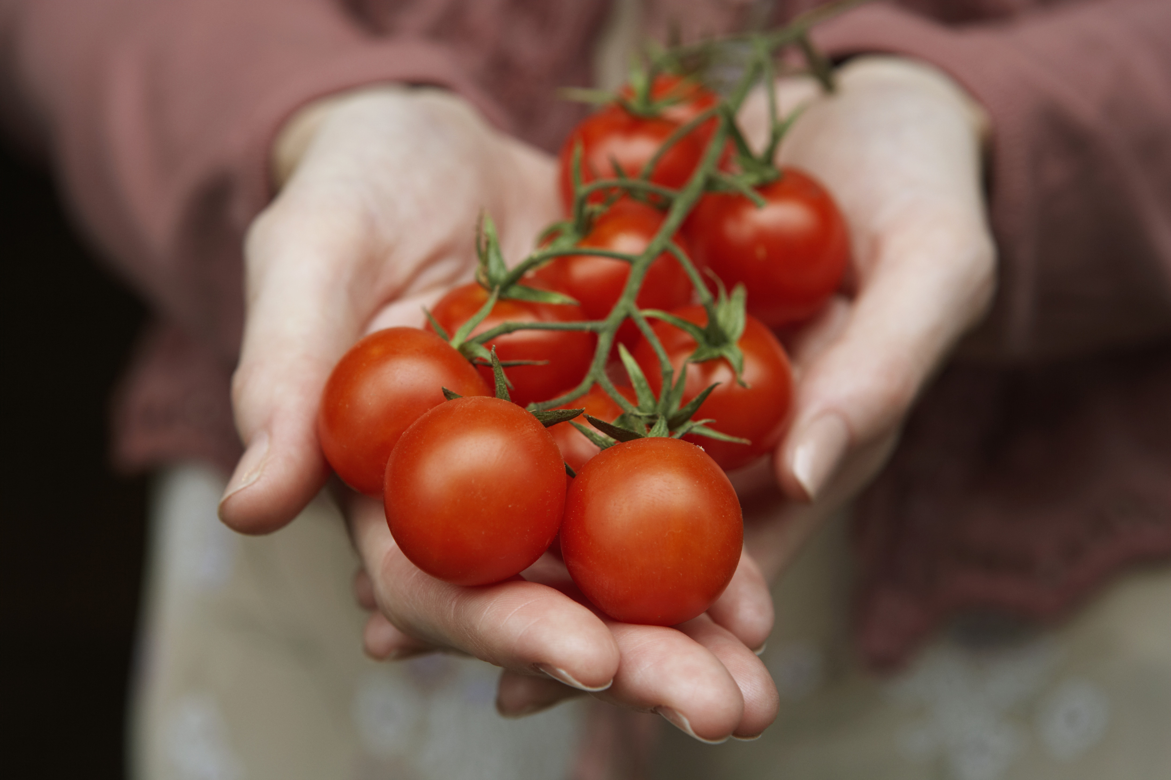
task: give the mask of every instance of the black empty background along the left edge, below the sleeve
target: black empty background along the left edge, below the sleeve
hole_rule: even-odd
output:
[[[144,309],[44,171],[0,151],[0,191],[5,765],[121,778],[148,484],[111,472],[108,410]]]

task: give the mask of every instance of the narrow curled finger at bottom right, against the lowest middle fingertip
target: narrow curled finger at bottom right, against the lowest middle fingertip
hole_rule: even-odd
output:
[[[739,739],[755,739],[776,719],[780,697],[765,664],[731,631],[700,615],[677,629],[706,648],[728,671],[744,698],[744,714],[732,732]]]

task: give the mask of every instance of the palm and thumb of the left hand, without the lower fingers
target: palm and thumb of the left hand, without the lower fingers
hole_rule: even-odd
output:
[[[422,306],[474,267],[481,212],[520,256],[557,215],[553,162],[465,101],[379,87],[302,110],[276,144],[276,199],[246,247],[246,321],[233,378],[247,450],[220,516],[281,527],[321,490],[321,390],[362,335],[420,326]]]

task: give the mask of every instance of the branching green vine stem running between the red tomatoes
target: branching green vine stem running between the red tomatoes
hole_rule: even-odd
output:
[[[584,254],[611,258],[630,264],[630,274],[626,278],[626,283],[623,287],[622,294],[614,308],[603,320],[580,322],[505,322],[471,337],[468,337],[467,334],[472,330],[472,327],[465,324],[465,327],[456,334],[454,341],[459,341],[461,343],[467,342],[464,345],[465,351],[480,351],[484,350],[484,344],[486,342],[516,330],[583,330],[595,333],[597,334],[597,345],[595,348],[589,370],[586,372],[586,376],[582,377],[582,381],[575,388],[563,392],[556,398],[530,404],[530,409],[535,411],[545,411],[556,406],[562,406],[575,398],[581,397],[588,392],[593,385],[597,384],[601,385],[602,389],[609,394],[611,398],[614,398],[615,403],[622,408],[624,418],[634,420],[635,427],[639,427],[644,431],[649,427],[652,435],[656,432],[659,435],[667,435],[664,433],[664,431],[667,431],[669,429],[678,429],[673,435],[682,435],[682,431],[684,430],[694,430],[697,432],[708,431],[710,433],[720,436],[703,426],[704,422],[710,420],[679,419],[682,411],[690,410],[685,416],[690,417],[691,412],[694,411],[694,408],[698,408],[698,404],[691,403],[687,404],[684,410],[677,409],[678,398],[676,396],[680,395],[683,390],[682,376],[678,381],[676,379],[674,369],[670,364],[666,350],[663,348],[663,344],[655,334],[655,329],[648,321],[648,316],[667,322],[676,320],[676,317],[663,312],[642,312],[638,309],[635,301],[651,264],[653,264],[655,260],[664,252],[670,253],[687,274],[689,280],[696,289],[699,302],[704,306],[704,309],[707,313],[708,324],[705,329],[700,329],[698,326],[686,329],[689,331],[694,330],[692,335],[703,335],[713,347],[718,348],[721,354],[727,355],[731,351],[732,357],[735,358],[733,360],[733,365],[737,367],[737,378],[740,378],[739,350],[734,343],[730,343],[733,341],[732,334],[724,333],[724,326],[720,324],[721,317],[718,316],[718,308],[727,306],[727,300],[724,296],[723,288],[720,293],[720,302],[717,302],[711,290],[707,288],[704,278],[700,275],[699,269],[696,268],[691,259],[685,252],[683,252],[673,239],[684,220],[691,213],[692,208],[707,191],[734,191],[752,199],[758,205],[762,204],[760,196],[753,187],[779,176],[779,172],[773,166],[772,160],[782,135],[792,123],[792,118],[789,121],[781,121],[778,117],[775,96],[772,94],[773,90],[768,89],[768,114],[771,124],[769,137],[765,150],[758,156],[754,155],[748,148],[748,144],[744,138],[744,134],[735,122],[735,115],[756,83],[772,83],[776,73],[773,57],[776,50],[783,47],[796,46],[800,48],[801,53],[804,55],[809,71],[819,80],[824,90],[833,90],[834,84],[830,63],[813,47],[808,37],[808,32],[809,28],[817,22],[836,15],[850,7],[860,5],[862,1],[864,0],[837,0],[835,2],[828,2],[797,16],[787,27],[772,33],[746,33],[744,35],[731,36],[721,41],[708,41],[687,47],[677,47],[665,52],[659,62],[651,64],[650,76],[645,70],[639,70],[639,77],[645,80],[652,77],[653,73],[656,73],[662,67],[662,63],[666,61],[682,63],[686,61],[687,57],[710,55],[715,50],[713,47],[726,46],[730,42],[742,43],[749,47],[749,61],[746,63],[744,73],[735,83],[734,88],[731,90],[731,94],[723,98],[719,104],[703,111],[674,130],[655,153],[655,156],[651,157],[651,159],[643,166],[643,170],[639,172],[637,178],[619,175],[617,178],[595,179],[589,184],[584,184],[581,176],[582,149],[578,144],[578,146],[574,149],[571,160],[574,183],[574,204],[570,210],[571,220],[569,223],[561,223],[559,226],[554,226],[554,228],[550,228],[550,231],[546,233],[547,237],[556,237],[560,232],[566,237],[566,240],[557,240],[554,238],[550,246],[534,251],[515,267],[508,269],[506,275],[495,276],[494,279],[498,281],[494,281],[494,283],[498,286],[492,290],[492,295],[489,297],[489,301],[493,302],[498,296],[508,297],[509,288],[522,285],[522,280],[526,274],[555,258]],[[649,89],[648,84],[643,84],[643,87]],[[642,91],[646,91],[646,89],[643,89]],[[638,96],[642,93],[636,90],[635,94]],[[596,95],[591,93],[589,97],[595,98]],[[672,190],[649,180],[651,171],[655,170],[656,164],[671,145],[677,143],[687,134],[693,132],[701,124],[712,121],[717,122],[717,126],[707,142],[703,157],[696,166],[691,178],[680,189]],[[724,151],[730,142],[738,152],[737,159],[740,162],[741,167],[739,173],[728,173],[719,170],[720,158],[724,156]],[[600,192],[605,193],[609,200],[602,205],[591,204],[591,198]],[[567,244],[576,244],[584,235],[584,233],[588,232],[589,224],[594,214],[604,211],[610,201],[622,194],[636,194],[639,197],[650,196],[656,198],[656,200],[660,204],[666,205],[666,213],[664,215],[663,224],[639,254],[632,255],[593,247],[567,246]],[[492,235],[494,238],[494,233]],[[489,247],[488,252],[491,253],[493,251],[499,253],[498,247]],[[497,262],[499,262],[499,260],[497,260]],[[528,294],[533,293],[530,289],[519,292],[527,292]],[[740,296],[739,302],[742,307],[742,290],[739,290],[738,295]],[[733,297],[735,299],[737,296]],[[733,303],[735,303],[735,301],[733,301]],[[482,314],[486,315],[488,309],[491,309],[491,306],[486,305]],[[482,320],[482,316],[479,316],[478,313],[478,317],[473,319],[478,322]],[[636,388],[639,390],[639,403],[631,403],[623,394],[618,392],[607,371],[607,364],[612,351],[616,334],[619,326],[628,319],[635,323],[639,333],[642,333],[643,337],[653,349],[659,361],[659,368],[663,377],[663,390],[660,398],[653,404],[655,411],[650,411],[651,403],[648,398],[643,397],[649,392],[649,390],[645,390],[645,388],[642,386],[645,384],[645,378],[642,377],[637,367],[634,365],[632,358],[630,358],[629,353],[626,353],[624,348],[619,348],[619,353],[622,355],[623,364],[626,367],[628,372],[631,374],[631,382],[635,383]],[[723,321],[725,326],[728,322],[726,316],[723,317]],[[691,323],[687,324],[690,326]],[[472,326],[474,327],[474,323],[472,323]],[[742,330],[742,315],[739,327],[728,327],[733,328],[735,337],[738,337],[739,330]],[[459,347],[460,344],[456,345]],[[486,350],[484,351],[486,354]],[[705,356],[704,348],[700,347],[697,348],[697,353],[693,357],[708,360],[711,353],[712,349],[707,348],[707,356]],[[689,358],[689,361],[690,360],[691,358]],[[666,422],[669,417],[671,419],[670,424]],[[650,425],[643,420],[650,422]],[[614,429],[614,426],[607,425],[607,429]],[[634,435],[639,436],[637,432]]]

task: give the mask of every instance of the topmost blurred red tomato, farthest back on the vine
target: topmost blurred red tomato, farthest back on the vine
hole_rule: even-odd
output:
[[[637,178],[678,126],[671,119],[635,116],[616,104],[586,117],[569,134],[559,158],[561,203],[566,211],[574,204],[573,159],[578,143],[582,146],[582,184],[597,178],[616,178],[615,160],[628,177]],[[703,153],[700,139],[689,134],[663,153],[651,171],[650,180],[665,187],[682,187],[694,172]],[[590,196],[590,203],[604,199],[604,192]]]

